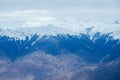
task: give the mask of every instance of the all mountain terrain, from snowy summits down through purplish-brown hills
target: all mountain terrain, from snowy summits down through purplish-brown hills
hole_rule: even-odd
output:
[[[119,80],[119,33],[119,24],[73,18],[1,28],[0,80]]]

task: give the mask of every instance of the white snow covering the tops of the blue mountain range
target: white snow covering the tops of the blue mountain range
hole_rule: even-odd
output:
[[[120,24],[105,24],[87,19],[82,20],[69,17],[64,19],[52,19],[49,22],[32,21],[24,23],[23,26],[17,29],[0,29],[0,35],[24,40],[26,36],[31,38],[34,34],[39,35],[39,37],[56,34],[86,34],[86,29],[92,28],[89,32],[91,39],[96,32],[100,32],[101,34],[112,33],[111,36],[113,36],[114,39],[120,39]]]

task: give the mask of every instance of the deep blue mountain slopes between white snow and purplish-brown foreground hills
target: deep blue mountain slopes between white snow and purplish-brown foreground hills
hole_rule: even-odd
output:
[[[4,52],[12,61],[34,51],[44,51],[54,56],[63,52],[84,57],[91,56],[91,61],[96,58],[96,61],[99,62],[106,55],[109,55],[111,59],[119,56],[119,48],[119,40],[114,40],[110,34],[96,33],[93,40],[88,34],[79,34],[79,36],[56,34],[42,37],[34,34],[31,38],[26,36],[25,40],[0,36],[0,51]]]

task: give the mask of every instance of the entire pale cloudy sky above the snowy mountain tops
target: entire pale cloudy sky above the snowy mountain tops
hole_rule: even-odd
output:
[[[56,17],[115,16],[119,11],[120,0],[0,0],[0,26]]]

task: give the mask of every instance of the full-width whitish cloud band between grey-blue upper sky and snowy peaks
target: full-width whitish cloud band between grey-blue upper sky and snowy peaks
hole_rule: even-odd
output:
[[[109,13],[109,14],[108,14]],[[71,9],[71,10],[46,10],[26,9],[13,10],[0,13],[0,26],[2,28],[19,28],[25,26],[47,25],[59,18],[75,17],[99,22],[114,21],[119,18],[120,11],[117,9]],[[28,24],[29,23],[29,24]],[[62,26],[61,26],[62,27]]]

